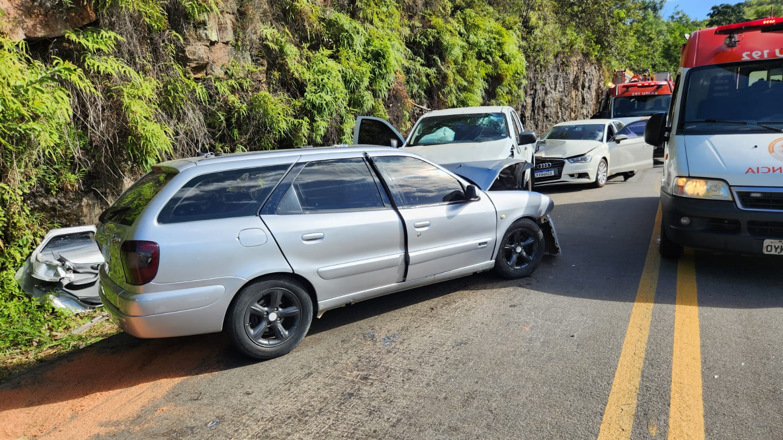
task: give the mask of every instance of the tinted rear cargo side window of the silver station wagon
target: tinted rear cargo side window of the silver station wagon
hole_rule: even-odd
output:
[[[256,215],[290,164],[218,171],[190,179],[168,200],[157,221],[194,222]]]

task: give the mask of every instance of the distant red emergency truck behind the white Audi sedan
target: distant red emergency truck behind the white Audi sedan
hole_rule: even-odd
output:
[[[613,82],[604,90],[601,107],[594,117],[611,118],[624,124],[640,117],[669,110],[674,84],[668,72],[633,74],[615,70]]]

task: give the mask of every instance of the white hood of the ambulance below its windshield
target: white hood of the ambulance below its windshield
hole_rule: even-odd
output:
[[[691,177],[723,179],[729,186],[783,186],[783,133],[682,138]]]

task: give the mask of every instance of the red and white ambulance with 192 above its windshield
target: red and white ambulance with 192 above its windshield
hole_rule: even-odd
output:
[[[783,255],[783,18],[695,31],[674,83],[644,132],[666,146],[662,257]]]

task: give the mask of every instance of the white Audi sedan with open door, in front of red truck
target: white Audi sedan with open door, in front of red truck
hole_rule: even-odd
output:
[[[653,147],[644,142],[646,119],[627,126],[612,119],[556,124],[536,147],[536,186],[592,183],[601,188],[614,175],[628,180],[652,168]]]

